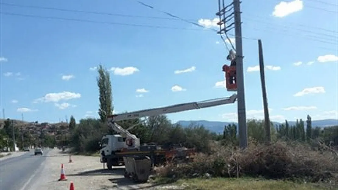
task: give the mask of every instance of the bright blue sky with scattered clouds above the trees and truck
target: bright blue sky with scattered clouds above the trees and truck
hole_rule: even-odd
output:
[[[217,19],[214,20],[217,1],[142,2],[217,29]],[[294,120],[306,118],[307,114],[313,119],[337,118],[337,2],[287,2],[255,0],[243,1],[241,5],[242,34],[246,37],[243,55],[247,117],[263,118],[256,67],[259,63],[256,39],[260,38],[271,120]],[[82,0],[81,4],[65,0],[2,0],[2,3],[0,104],[5,117],[21,119],[23,114],[24,120],[41,122],[57,122],[66,117],[69,120],[70,115],[77,120],[97,117],[95,67],[99,63],[111,70],[116,112],[233,94],[226,91],[222,82],[227,50],[214,31],[172,20],[135,0]],[[160,27],[145,27],[149,25]],[[172,121],[234,121],[236,112],[237,102],[168,117]]]

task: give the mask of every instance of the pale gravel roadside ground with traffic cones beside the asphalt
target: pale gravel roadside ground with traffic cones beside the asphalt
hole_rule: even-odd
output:
[[[124,178],[124,166],[113,170],[103,169],[99,157],[72,155],[73,163],[69,162],[69,155],[59,153],[54,149],[47,155],[45,167],[39,181],[31,189],[69,190],[70,182],[76,190],[157,190],[177,189],[171,186],[154,187],[150,183],[137,184]],[[67,181],[58,181],[61,164]]]

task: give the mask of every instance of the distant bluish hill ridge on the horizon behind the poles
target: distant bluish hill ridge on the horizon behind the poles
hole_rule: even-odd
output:
[[[296,123],[296,121],[288,121],[288,122],[290,125],[295,125]],[[223,122],[223,121],[199,120],[199,121],[177,121],[176,123],[184,127],[188,127],[191,123],[194,123],[196,125],[202,125],[205,128],[215,133],[223,133],[223,129],[225,125],[235,124],[238,127],[237,123]],[[279,124],[282,124],[282,123],[273,122],[273,125],[279,125]],[[325,119],[325,120],[312,121],[312,127],[331,127],[331,126],[338,126],[338,119]]]

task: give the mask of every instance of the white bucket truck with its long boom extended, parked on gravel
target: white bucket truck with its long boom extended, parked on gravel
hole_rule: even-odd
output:
[[[234,94],[226,98],[110,115],[108,116],[108,126],[112,127],[117,134],[105,135],[102,138],[100,144],[100,162],[106,163],[107,168],[111,170],[113,166],[124,163],[123,157],[148,156],[151,158],[153,164],[159,164],[165,161],[165,150],[155,145],[141,145],[140,139],[137,138],[135,134],[128,132],[132,127],[124,129],[116,123],[117,121],[233,104],[236,98],[237,95]]]

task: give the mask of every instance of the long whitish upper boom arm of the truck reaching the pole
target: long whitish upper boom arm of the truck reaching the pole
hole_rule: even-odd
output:
[[[153,109],[146,109],[146,110],[141,110],[141,111],[115,114],[115,115],[108,116],[108,119],[111,122],[115,123],[116,121],[122,121],[122,120],[127,120],[127,119],[135,119],[135,118],[140,118],[140,117],[149,117],[149,116],[166,114],[166,113],[176,113],[176,112],[181,112],[181,111],[188,111],[188,110],[195,110],[195,109],[201,109],[201,108],[207,108],[207,107],[213,107],[213,106],[233,104],[235,103],[236,99],[237,99],[237,95],[234,94],[226,98],[219,98],[219,99],[213,99],[213,100],[207,100],[207,101],[201,101],[201,102],[191,102],[191,103],[186,103],[186,104],[177,104],[173,106],[165,106],[165,107],[160,107],[160,108],[153,108]],[[122,130],[124,129],[122,128]]]

